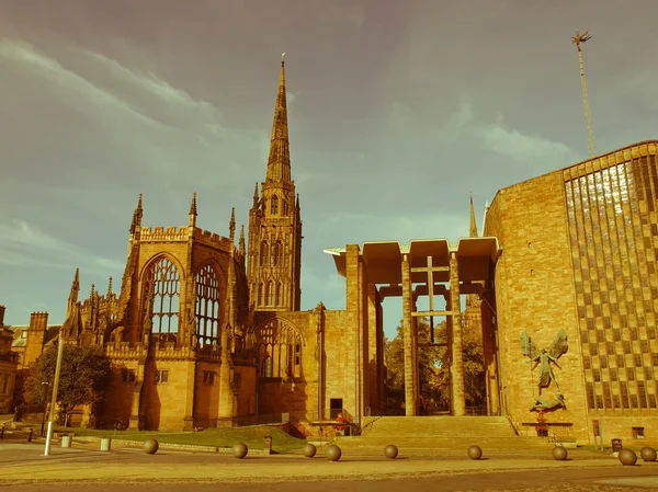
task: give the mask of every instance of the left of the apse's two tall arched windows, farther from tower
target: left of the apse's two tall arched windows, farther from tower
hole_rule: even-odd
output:
[[[160,341],[175,342],[178,336],[180,281],[180,272],[166,256],[154,263],[147,276],[143,330],[150,331]]]

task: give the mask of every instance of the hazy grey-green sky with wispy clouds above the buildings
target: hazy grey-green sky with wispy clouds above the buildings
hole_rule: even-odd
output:
[[[322,250],[468,236],[499,188],[658,137],[655,0],[2,0],[0,304],[61,323],[145,226],[228,236],[265,176],[281,53],[302,308],[344,309]],[[87,296],[84,296],[87,297]],[[385,301],[395,333],[400,300]]]

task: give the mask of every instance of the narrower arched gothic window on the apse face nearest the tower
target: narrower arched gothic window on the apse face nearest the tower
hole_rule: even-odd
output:
[[[201,346],[219,345],[219,279],[215,270],[205,265],[195,277],[196,340]]]

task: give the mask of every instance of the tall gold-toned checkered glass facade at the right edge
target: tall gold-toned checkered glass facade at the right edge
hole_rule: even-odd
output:
[[[564,178],[588,408],[658,413],[656,156]]]

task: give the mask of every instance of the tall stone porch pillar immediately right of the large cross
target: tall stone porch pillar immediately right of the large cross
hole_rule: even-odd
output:
[[[464,361],[462,357],[462,308],[460,304],[460,272],[457,268],[457,254],[450,253],[450,305],[452,311],[452,378],[451,401],[453,415],[466,414],[466,400],[464,398]]]

